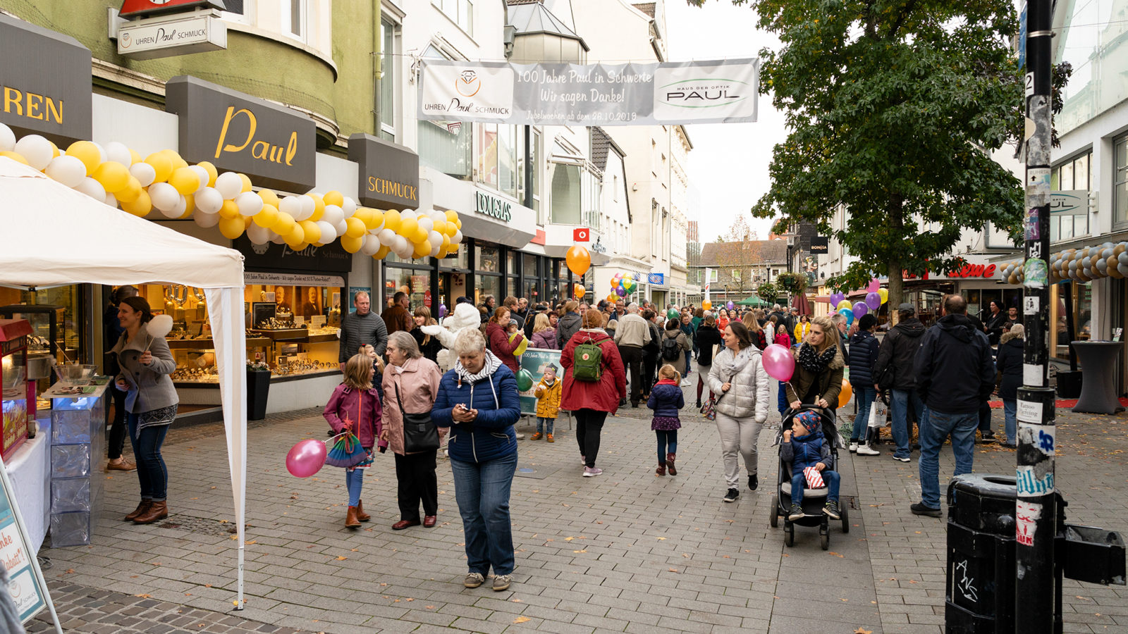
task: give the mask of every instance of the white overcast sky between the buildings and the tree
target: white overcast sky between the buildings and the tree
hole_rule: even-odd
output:
[[[779,41],[756,29],[756,12],[729,0],[707,0],[689,7],[685,0],[666,2],[666,26],[671,61],[756,58],[764,46]],[[738,214],[766,239],[769,220],[752,219],[749,209],[769,188],[772,148],[786,139],[784,117],[761,95],[756,123],[688,125],[694,144],[689,180],[699,192],[700,206],[690,210],[700,222],[702,241],[724,234]]]

